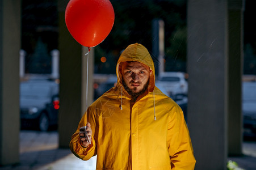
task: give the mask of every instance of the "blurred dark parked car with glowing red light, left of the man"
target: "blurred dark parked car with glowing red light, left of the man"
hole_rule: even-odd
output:
[[[28,80],[20,83],[21,128],[47,131],[57,125],[60,101],[58,84],[52,80]]]

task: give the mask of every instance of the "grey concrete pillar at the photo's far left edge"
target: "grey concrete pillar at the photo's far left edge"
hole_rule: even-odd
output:
[[[21,2],[0,0],[0,165],[19,162]]]

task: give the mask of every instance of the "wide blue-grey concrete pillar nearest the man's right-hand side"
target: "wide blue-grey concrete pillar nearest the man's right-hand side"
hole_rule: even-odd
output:
[[[228,6],[188,0],[188,128],[195,169],[226,169]]]

